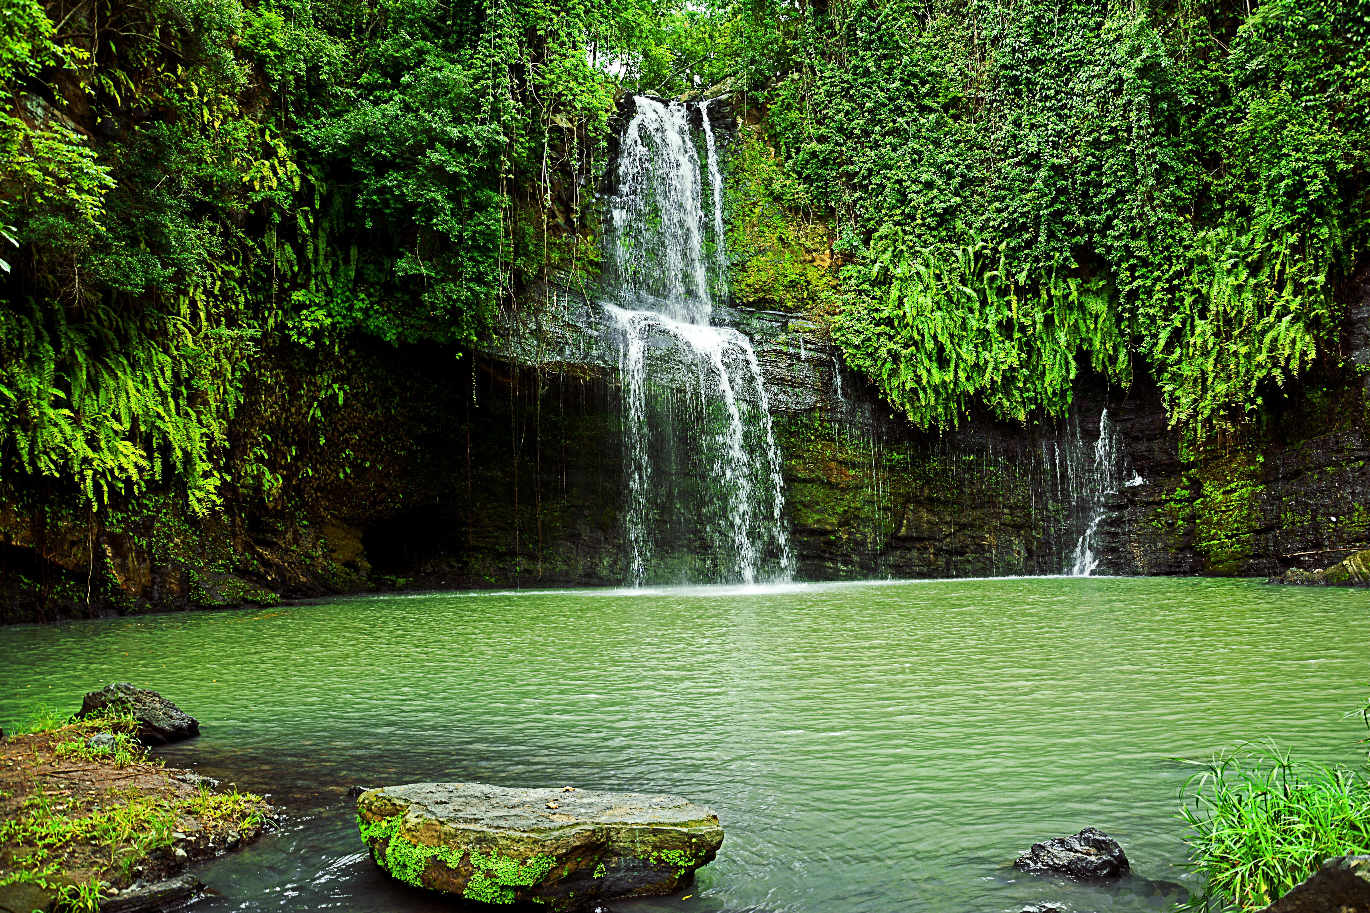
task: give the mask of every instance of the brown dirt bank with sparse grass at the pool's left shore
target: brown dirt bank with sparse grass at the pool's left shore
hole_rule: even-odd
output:
[[[262,797],[152,758],[130,716],[32,728],[0,738],[0,913],[162,909],[149,888],[275,821]]]

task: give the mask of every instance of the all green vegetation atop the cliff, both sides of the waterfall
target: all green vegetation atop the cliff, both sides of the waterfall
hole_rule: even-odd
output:
[[[1059,412],[1088,365],[1229,427],[1340,365],[1365,1],[3,4],[0,460],[92,501],[269,496],[289,454],[233,416],[282,352],[462,345],[593,270],[623,90],[759,116],[748,167],[841,271],[738,287],[801,286],[922,426]]]

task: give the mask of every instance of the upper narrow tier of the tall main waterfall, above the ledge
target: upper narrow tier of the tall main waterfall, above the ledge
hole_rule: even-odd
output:
[[[689,110],[634,96],[634,114],[618,156],[618,188],[610,200],[607,277],[618,303],[682,323],[707,324],[712,313],[706,249],[704,186]],[[708,112],[704,110],[704,122]],[[711,244],[721,248],[722,189],[712,130],[707,170],[714,218]],[[717,257],[715,257],[717,259]]]

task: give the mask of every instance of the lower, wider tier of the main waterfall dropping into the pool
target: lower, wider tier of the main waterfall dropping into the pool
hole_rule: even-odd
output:
[[[751,341],[606,311],[621,333],[627,580],[788,580],[780,450]]]

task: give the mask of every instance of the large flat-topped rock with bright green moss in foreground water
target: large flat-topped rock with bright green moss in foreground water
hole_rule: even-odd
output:
[[[367,790],[356,810],[371,857],[401,882],[553,910],[670,894],[723,843],[718,816],[678,795],[410,783]]]

